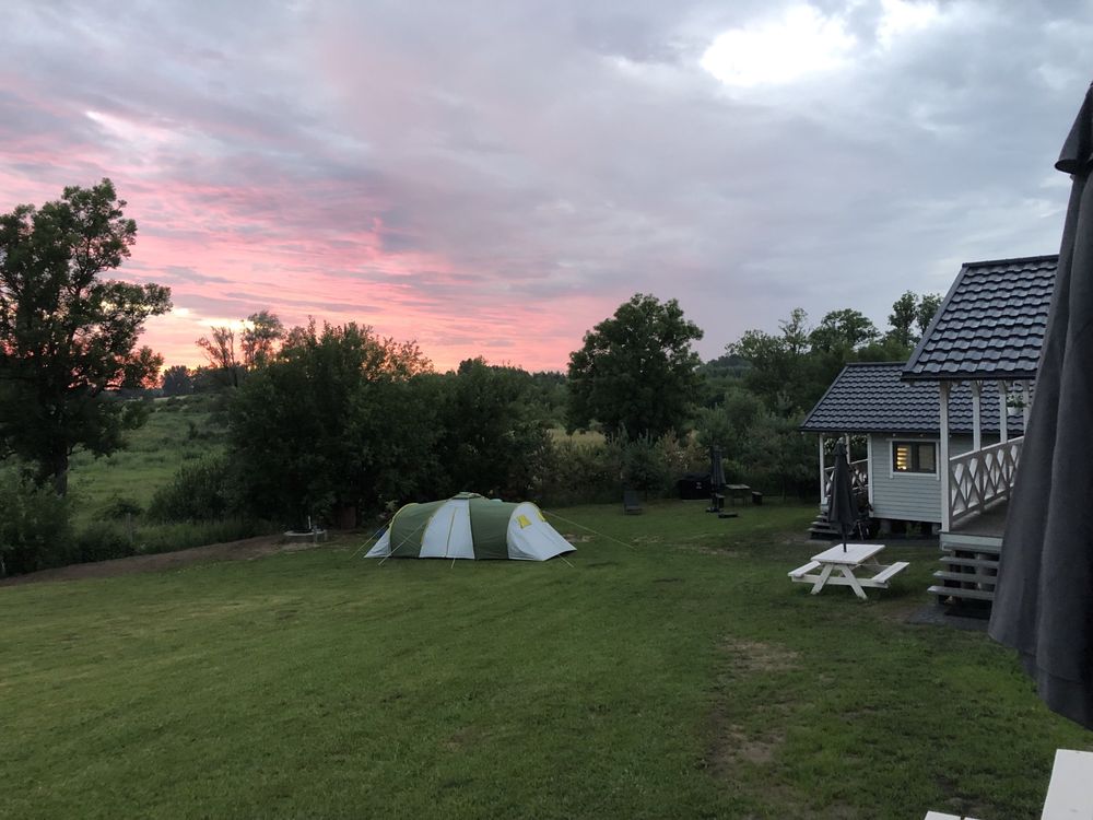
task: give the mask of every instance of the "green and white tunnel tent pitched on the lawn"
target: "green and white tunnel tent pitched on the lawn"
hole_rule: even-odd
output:
[[[365,558],[507,558],[548,561],[574,547],[534,504],[474,493],[407,504]]]

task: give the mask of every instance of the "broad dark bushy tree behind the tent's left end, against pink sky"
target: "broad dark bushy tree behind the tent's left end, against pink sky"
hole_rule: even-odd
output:
[[[251,512],[301,527],[406,497],[437,467],[435,402],[415,383],[430,368],[413,342],[353,323],[291,330],[230,406],[231,455]]]

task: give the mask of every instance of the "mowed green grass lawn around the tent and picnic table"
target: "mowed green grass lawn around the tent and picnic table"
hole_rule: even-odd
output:
[[[346,539],[0,588],[0,817],[1038,817],[1093,736],[905,622],[937,547],[813,597],[813,507],[739,509],[561,509],[568,563]]]

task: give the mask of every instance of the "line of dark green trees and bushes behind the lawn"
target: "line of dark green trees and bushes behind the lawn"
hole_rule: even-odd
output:
[[[638,293],[585,335],[566,372],[538,374],[482,359],[436,373],[414,342],[353,323],[287,328],[258,311],[197,340],[205,366],[160,376],[162,358],[138,340],[171,309],[169,290],[107,278],[136,241],[125,204],[104,179],[0,215],[9,564],[19,550],[34,554],[34,520],[61,515],[70,456],[108,455],[146,418],[148,402],[118,396],[153,387],[218,396],[227,429],[224,456],[185,466],[141,511],[163,520],[351,523],[461,490],[544,502],[601,500],[623,485],[667,493],[708,465],[712,446],[725,450],[730,480],[808,496],[802,413],[846,362],[906,359],[940,301],[902,294],[884,331],[851,308],[814,326],[796,308],[776,332],[748,330],[704,363],[693,347],[703,331],[679,303]]]

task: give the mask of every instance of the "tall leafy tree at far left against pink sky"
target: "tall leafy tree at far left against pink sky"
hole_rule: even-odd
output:
[[[77,447],[109,454],[143,418],[104,394],[152,386],[163,364],[137,340],[171,309],[171,291],[102,278],[136,242],[125,206],[103,179],[0,215],[0,449],[33,461],[59,495]]]

